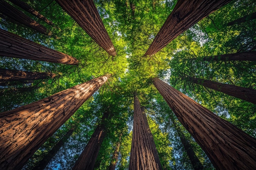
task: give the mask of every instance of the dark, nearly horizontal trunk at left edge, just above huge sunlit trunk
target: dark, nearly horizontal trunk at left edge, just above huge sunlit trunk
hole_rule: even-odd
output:
[[[38,80],[45,78],[54,78],[54,73],[41,73],[41,72],[25,72],[19,70],[9,70],[0,68],[0,82],[2,81],[25,81],[25,80]]]

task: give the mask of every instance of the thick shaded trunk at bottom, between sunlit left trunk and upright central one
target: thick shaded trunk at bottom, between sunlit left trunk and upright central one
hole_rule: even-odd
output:
[[[105,124],[103,123],[108,118],[109,113],[105,112],[102,116],[101,124],[97,126],[88,144],[83,152],[76,160],[72,170],[93,170],[101,144],[106,135]]]

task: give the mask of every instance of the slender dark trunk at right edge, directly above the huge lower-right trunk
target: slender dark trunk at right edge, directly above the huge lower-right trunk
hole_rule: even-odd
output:
[[[247,102],[256,104],[256,90],[254,89],[248,89],[248,88],[239,87],[236,85],[218,83],[218,82],[204,80],[200,78],[182,77],[182,79],[186,81],[191,81],[199,85],[203,85],[204,87],[209,87],[219,92],[228,94],[229,96],[234,96],[236,98],[240,98]]]

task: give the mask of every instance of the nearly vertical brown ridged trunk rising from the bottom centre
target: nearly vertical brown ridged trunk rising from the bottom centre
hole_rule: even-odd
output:
[[[129,170],[162,170],[146,114],[141,111],[136,93]]]

